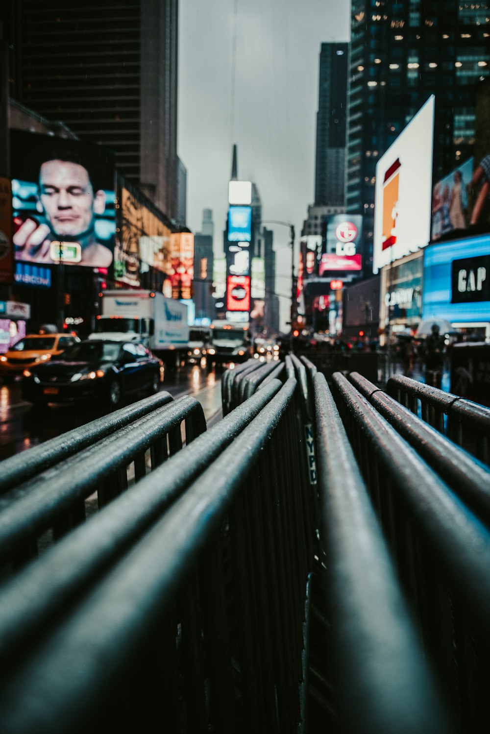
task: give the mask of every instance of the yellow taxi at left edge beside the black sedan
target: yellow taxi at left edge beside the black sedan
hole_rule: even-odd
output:
[[[17,377],[28,367],[43,364],[76,344],[78,336],[65,334],[29,334],[24,336],[8,352],[0,355],[0,377],[4,380]]]

